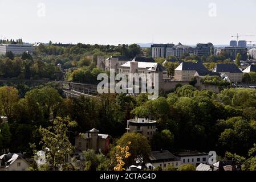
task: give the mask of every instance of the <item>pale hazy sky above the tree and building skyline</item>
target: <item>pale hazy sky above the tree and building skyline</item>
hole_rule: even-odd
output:
[[[0,39],[30,43],[229,44],[230,35],[256,35],[255,0],[0,0],[0,7]]]

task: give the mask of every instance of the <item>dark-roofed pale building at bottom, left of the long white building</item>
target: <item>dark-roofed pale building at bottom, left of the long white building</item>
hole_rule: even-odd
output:
[[[181,166],[181,160],[170,153],[168,150],[152,151],[149,155],[149,162],[153,167],[165,168],[168,165],[176,168]]]

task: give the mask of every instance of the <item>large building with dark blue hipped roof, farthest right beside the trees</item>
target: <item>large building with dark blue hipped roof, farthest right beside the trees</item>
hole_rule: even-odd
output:
[[[231,82],[241,82],[243,72],[235,64],[216,64],[213,72],[229,77]]]

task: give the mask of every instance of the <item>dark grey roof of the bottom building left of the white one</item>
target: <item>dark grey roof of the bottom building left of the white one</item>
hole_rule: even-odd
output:
[[[163,150],[163,151],[152,151],[151,154],[149,155],[149,160],[151,160],[151,162],[154,162],[159,160],[178,161],[180,159],[176,158],[176,156],[174,156],[168,150]]]

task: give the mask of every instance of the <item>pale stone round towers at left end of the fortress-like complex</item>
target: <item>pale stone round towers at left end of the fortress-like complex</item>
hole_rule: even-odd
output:
[[[120,65],[131,61],[124,56],[111,56],[107,59],[104,59],[103,56],[97,56],[97,68],[100,68],[104,71],[110,71],[110,69],[115,69],[115,73],[118,73]]]

